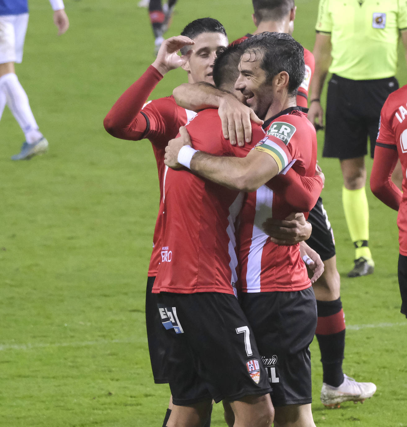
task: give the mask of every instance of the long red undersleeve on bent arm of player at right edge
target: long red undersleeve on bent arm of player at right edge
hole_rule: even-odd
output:
[[[385,145],[385,144],[383,144]],[[375,147],[372,173],[370,174],[370,189],[385,205],[398,211],[401,202],[401,191],[391,180],[392,172],[398,160],[397,149],[394,145]]]

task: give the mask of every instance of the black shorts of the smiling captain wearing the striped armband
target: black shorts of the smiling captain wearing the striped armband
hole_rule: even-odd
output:
[[[273,405],[311,403],[309,345],[317,327],[312,287],[297,292],[244,293],[241,307],[273,388]]]

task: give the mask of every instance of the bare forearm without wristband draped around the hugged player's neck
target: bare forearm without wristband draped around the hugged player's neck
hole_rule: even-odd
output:
[[[180,107],[192,111],[204,108],[218,108],[220,99],[226,92],[209,83],[183,83],[172,91],[175,101]]]

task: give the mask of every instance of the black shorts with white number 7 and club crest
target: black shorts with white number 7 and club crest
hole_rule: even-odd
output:
[[[246,316],[234,295],[158,294],[169,336],[166,369],[176,405],[271,391]]]

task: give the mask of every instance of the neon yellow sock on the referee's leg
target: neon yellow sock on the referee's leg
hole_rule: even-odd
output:
[[[348,190],[343,187],[342,203],[349,234],[356,248],[355,259],[360,257],[371,259],[372,254],[368,246],[369,205],[365,187],[358,190]]]

